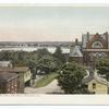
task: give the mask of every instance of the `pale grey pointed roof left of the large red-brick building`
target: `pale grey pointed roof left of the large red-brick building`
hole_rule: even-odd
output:
[[[70,50],[70,57],[83,57],[78,46],[72,47]]]

